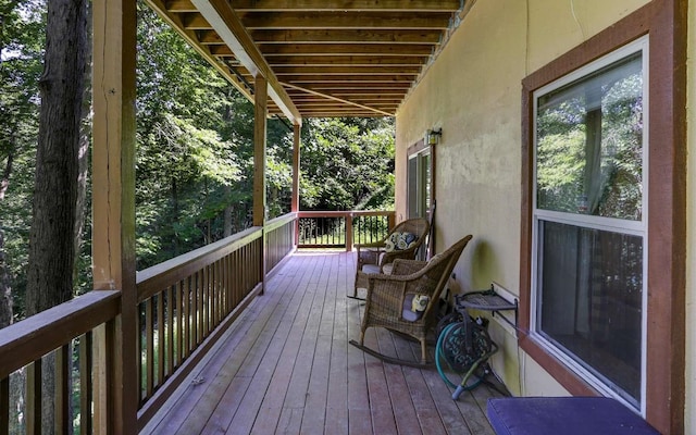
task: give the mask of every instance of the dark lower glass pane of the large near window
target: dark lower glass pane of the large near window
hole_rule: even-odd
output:
[[[538,331],[637,403],[643,238],[555,222],[539,226]]]

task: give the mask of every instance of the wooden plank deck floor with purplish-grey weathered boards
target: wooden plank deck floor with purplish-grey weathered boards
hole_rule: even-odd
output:
[[[385,364],[348,345],[363,311],[346,298],[353,274],[352,253],[295,253],[141,433],[493,434],[494,389],[453,401],[434,368]],[[386,331],[365,341],[419,355]]]

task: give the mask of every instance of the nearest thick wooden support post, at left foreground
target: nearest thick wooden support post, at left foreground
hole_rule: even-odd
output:
[[[122,291],[121,314],[95,334],[95,422],[138,433],[135,281],[136,2],[94,2],[92,257],[95,290]]]

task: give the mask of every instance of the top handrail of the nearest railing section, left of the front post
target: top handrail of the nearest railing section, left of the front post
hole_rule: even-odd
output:
[[[119,315],[121,293],[92,290],[2,330],[0,380]]]

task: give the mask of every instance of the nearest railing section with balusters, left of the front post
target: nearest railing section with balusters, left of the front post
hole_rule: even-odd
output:
[[[92,373],[92,331],[104,324],[113,327],[120,309],[120,291],[95,290],[1,330],[0,434],[9,433],[10,415],[16,418],[10,413],[16,405],[10,401],[10,375],[20,370],[26,377],[26,394],[20,398],[26,400],[23,425],[27,434],[41,433],[42,357],[51,352],[55,357],[55,424],[46,431],[71,433],[78,414],[80,433],[92,433],[92,381],[97,382]],[[74,382],[79,385],[77,397]]]

